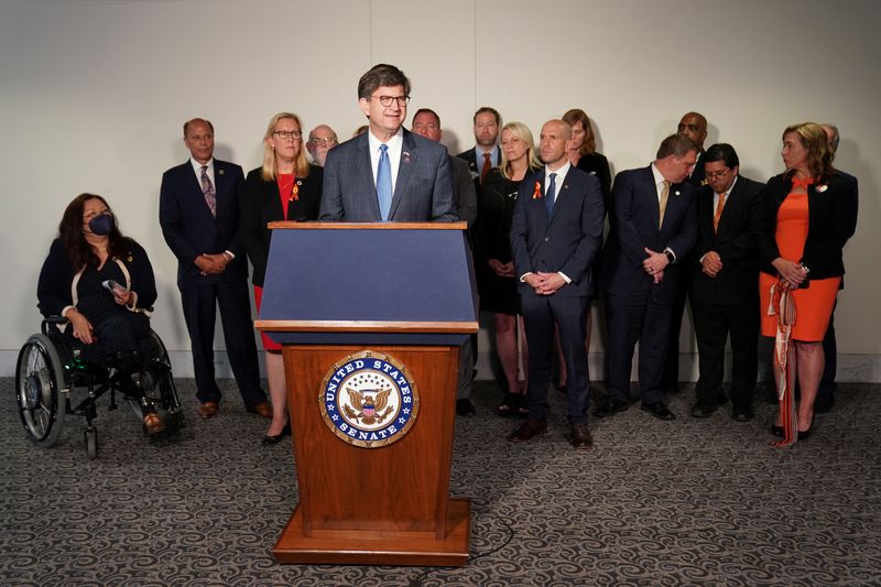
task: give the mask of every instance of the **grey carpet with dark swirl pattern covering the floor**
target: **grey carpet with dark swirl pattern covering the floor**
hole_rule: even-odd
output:
[[[231,382],[224,382],[230,390]],[[774,407],[752,423],[726,411],[667,423],[638,406],[591,418],[595,447],[565,438],[563,395],[551,434],[504,441],[481,382],[478,415],[457,423],[452,492],[472,499],[463,568],[279,565],[270,547],[297,499],[290,445],[261,447],[265,421],[229,392],[199,421],[180,382],[189,434],[149,444],[131,412],[101,410],[99,457],[84,421],[61,443],[31,445],[13,382],[0,380],[0,585],[570,586],[881,585],[879,385],[841,385],[815,434],[773,449]],[[106,402],[102,402],[102,406]]]

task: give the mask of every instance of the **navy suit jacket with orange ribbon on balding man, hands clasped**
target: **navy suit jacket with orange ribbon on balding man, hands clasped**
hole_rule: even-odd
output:
[[[544,199],[545,169],[520,184],[511,220],[511,252],[518,278],[533,272],[563,272],[572,283],[555,295],[587,296],[594,293],[590,265],[602,242],[602,189],[599,180],[569,167],[557,185],[554,211],[547,217]],[[535,192],[541,197],[533,197]],[[535,295],[525,283],[522,294]]]

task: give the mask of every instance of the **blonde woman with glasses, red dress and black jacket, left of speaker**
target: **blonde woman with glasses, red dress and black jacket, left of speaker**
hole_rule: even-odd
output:
[[[322,167],[309,165],[303,149],[303,126],[291,112],[272,117],[263,135],[263,165],[244,180],[239,202],[239,229],[244,250],[253,265],[251,282],[260,312],[272,232],[275,220],[315,220],[322,199]],[[287,421],[287,388],[281,345],[262,335],[267,380],[272,398],[272,422],[263,444],[276,444],[291,433]]]

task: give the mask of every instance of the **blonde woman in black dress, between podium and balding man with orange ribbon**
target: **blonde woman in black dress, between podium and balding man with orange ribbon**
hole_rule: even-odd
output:
[[[516,290],[514,262],[511,256],[511,217],[518,198],[518,186],[535,173],[532,132],[522,122],[509,122],[502,128],[502,159],[487,174],[478,203],[475,257],[480,309],[492,312],[496,320],[496,348],[508,380],[508,390],[499,414],[525,414],[519,382],[518,325],[523,331],[520,294]],[[523,368],[526,368],[526,337],[520,337]]]

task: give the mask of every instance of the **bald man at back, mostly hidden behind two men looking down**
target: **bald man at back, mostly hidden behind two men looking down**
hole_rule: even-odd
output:
[[[686,112],[679,120],[676,132],[687,137],[697,145],[697,162],[695,169],[688,174],[688,183],[695,187],[707,184],[704,176],[704,141],[707,139],[707,119],[699,112]],[[697,273],[697,263],[689,256],[679,259],[678,284],[676,297],[673,301],[673,316],[670,322],[670,352],[661,376],[661,389],[666,391],[679,390],[679,333],[682,333],[682,318],[685,315],[685,302],[692,283]]]

